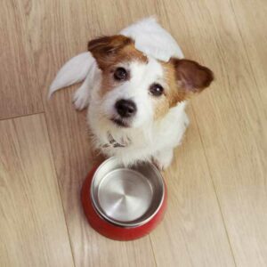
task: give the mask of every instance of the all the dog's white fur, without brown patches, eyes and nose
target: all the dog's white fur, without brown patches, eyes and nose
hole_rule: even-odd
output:
[[[121,34],[132,37],[136,48],[149,58],[148,64],[132,61],[118,66],[129,69],[129,81],[106,93],[102,99],[101,70],[91,53],[82,53],[61,68],[50,87],[49,96],[61,87],[85,80],[74,95],[74,103],[77,109],[84,109],[90,101],[87,120],[95,147],[107,156],[116,156],[125,165],[153,160],[160,168],[165,168],[171,163],[173,149],[182,142],[182,135],[189,124],[184,111],[186,102],[169,109],[165,117],[155,121],[157,100],[150,95],[149,87],[152,83],[167,86],[157,60],[168,61],[172,56],[183,58],[182,51],[174,38],[152,18],[125,28]],[[117,117],[114,105],[119,99],[131,99],[137,105],[137,113],[129,121],[129,128],[118,127],[110,120]],[[125,144],[125,148],[107,147],[110,135],[116,142]]]

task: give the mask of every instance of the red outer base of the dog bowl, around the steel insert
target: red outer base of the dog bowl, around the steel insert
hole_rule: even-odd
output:
[[[165,197],[162,206],[158,210],[158,213],[148,222],[137,227],[119,227],[112,223],[109,223],[103,219],[94,209],[91,198],[90,198],[90,187],[93,179],[93,174],[98,166],[94,167],[91,172],[87,175],[82,191],[81,199],[84,207],[85,215],[88,222],[93,227],[95,231],[98,231],[101,235],[115,240],[134,240],[140,239],[147,235],[156,228],[158,223],[163,219],[164,213],[166,211],[166,184],[165,184]]]

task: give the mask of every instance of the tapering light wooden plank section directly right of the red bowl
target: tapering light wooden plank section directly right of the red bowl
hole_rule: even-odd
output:
[[[158,230],[150,234],[157,264],[235,266],[198,126],[191,112],[190,117],[190,128],[165,174],[166,217]]]

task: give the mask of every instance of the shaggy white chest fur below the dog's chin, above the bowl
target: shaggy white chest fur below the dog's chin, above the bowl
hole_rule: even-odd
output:
[[[118,128],[101,117],[97,109],[97,101],[93,101],[88,110],[88,123],[93,131],[93,142],[96,148],[111,157],[116,156],[125,166],[134,165],[138,161],[155,159],[158,166],[166,168],[172,161],[173,149],[182,142],[182,136],[189,124],[184,111],[185,102],[170,109],[165,117],[157,122],[148,122],[139,128]],[[112,134],[117,142],[130,140],[125,148],[102,148],[109,142],[107,133]],[[166,158],[166,154],[168,157]]]

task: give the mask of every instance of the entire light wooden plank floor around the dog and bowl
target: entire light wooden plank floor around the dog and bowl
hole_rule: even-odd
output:
[[[75,86],[47,101],[95,36],[157,14],[216,81],[188,108],[150,236],[101,237],[79,192],[93,166]],[[0,266],[267,266],[266,0],[4,0],[0,9]]]

